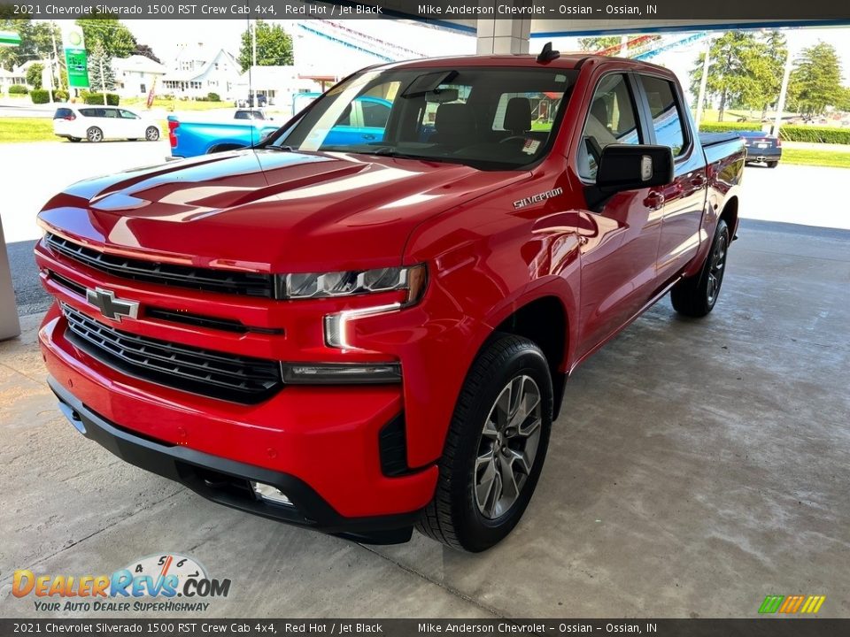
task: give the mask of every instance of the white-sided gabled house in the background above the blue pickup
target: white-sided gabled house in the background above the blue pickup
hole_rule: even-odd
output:
[[[228,51],[203,43],[181,45],[158,93],[175,97],[205,97],[218,93],[232,99],[239,84],[239,63]]]

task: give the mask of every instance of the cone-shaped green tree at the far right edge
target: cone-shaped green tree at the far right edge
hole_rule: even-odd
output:
[[[838,107],[846,92],[835,47],[818,42],[802,50],[794,62],[788,93],[794,109],[806,115],[820,115],[827,106]]]

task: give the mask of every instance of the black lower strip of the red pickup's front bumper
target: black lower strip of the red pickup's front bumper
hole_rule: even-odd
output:
[[[89,410],[56,379],[50,378],[48,383],[59,399],[59,409],[89,440],[122,460],[180,482],[215,503],[356,541],[392,544],[410,540],[419,510],[387,516],[345,518],[304,480],[288,473],[143,438]],[[249,481],[280,489],[289,496],[292,506],[259,499]]]

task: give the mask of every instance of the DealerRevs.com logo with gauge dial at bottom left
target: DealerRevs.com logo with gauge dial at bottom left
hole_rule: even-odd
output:
[[[36,575],[15,571],[12,595],[34,596],[45,612],[205,611],[227,597],[229,579],[212,579],[192,557],[160,554],[135,560],[112,575]]]

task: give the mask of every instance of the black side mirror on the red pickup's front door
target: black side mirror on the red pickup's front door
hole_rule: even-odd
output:
[[[665,186],[673,180],[669,146],[609,144],[599,157],[596,187],[612,193]]]

